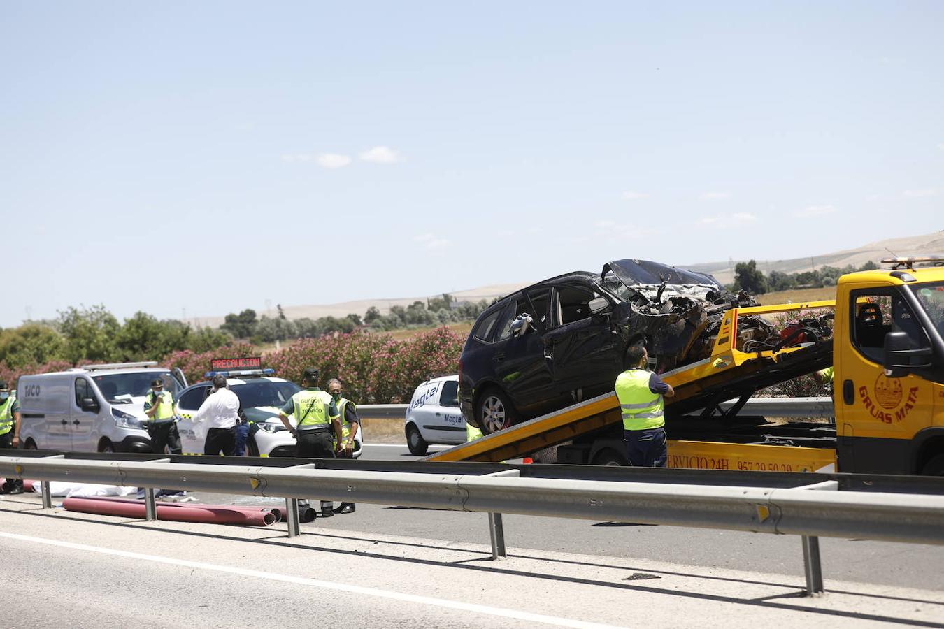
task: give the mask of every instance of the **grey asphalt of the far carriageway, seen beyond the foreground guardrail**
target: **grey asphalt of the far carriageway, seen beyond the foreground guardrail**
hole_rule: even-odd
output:
[[[430,446],[441,449],[445,446]],[[364,446],[366,460],[416,460],[405,444]],[[197,494],[208,504],[283,505],[280,499]],[[801,539],[676,526],[503,517],[509,548],[648,559],[709,569],[803,575]],[[358,505],[353,514],[318,519],[307,527],[489,544],[487,516],[383,505]],[[944,547],[820,538],[824,578],[944,591]]]

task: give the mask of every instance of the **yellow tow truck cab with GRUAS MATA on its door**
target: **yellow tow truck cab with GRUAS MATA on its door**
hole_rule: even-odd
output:
[[[883,262],[836,288],[838,468],[944,474],[944,257]]]

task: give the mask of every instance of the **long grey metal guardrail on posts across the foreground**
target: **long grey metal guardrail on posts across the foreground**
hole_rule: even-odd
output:
[[[150,488],[149,519],[154,517],[153,488],[158,487],[284,497],[290,536],[298,533],[297,500],[307,496],[475,511],[489,514],[496,558],[505,555],[503,513],[799,535],[811,593],[823,591],[818,536],[944,544],[944,491],[939,486],[934,495],[839,491],[838,480],[820,480],[819,474],[794,475],[812,482],[793,487],[706,486],[522,478],[514,466],[474,464],[459,468],[470,473],[452,473],[456,464],[447,464],[447,469],[435,463],[423,464],[427,473],[376,472],[324,469],[316,467],[318,460],[297,464],[297,459],[258,459],[245,465],[244,459],[217,464],[212,459],[225,459],[211,456],[200,463],[177,463],[168,458],[89,460],[38,454],[0,456],[0,475],[41,480],[47,507],[48,481],[68,479]]]

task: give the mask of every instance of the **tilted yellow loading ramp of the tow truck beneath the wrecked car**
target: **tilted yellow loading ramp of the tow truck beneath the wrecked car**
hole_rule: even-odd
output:
[[[750,395],[762,387],[827,367],[832,364],[831,340],[784,348],[778,352],[741,352],[736,347],[737,317],[739,314],[764,315],[834,306],[834,301],[821,301],[751,306],[726,311],[710,357],[662,374],[662,378],[675,389],[675,397],[667,399],[666,406],[672,405],[682,409],[682,412],[690,412],[734,397]],[[502,461],[563,443],[621,421],[615,393],[606,393],[426,456],[422,460]]]

